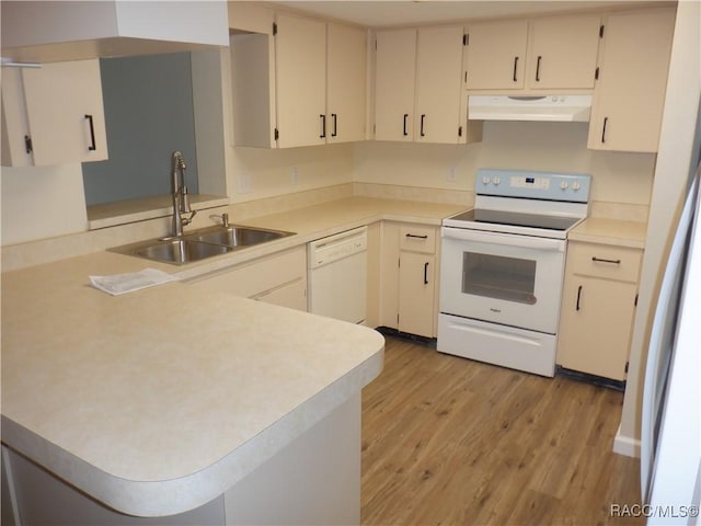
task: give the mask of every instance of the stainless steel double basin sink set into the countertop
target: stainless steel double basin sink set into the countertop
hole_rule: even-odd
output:
[[[294,232],[241,226],[200,228],[177,238],[159,238],[110,249],[120,254],[182,265],[292,236]]]

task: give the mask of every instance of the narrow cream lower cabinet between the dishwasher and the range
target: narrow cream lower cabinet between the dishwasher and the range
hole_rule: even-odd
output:
[[[384,222],[380,263],[380,324],[435,338],[438,312],[438,229]]]

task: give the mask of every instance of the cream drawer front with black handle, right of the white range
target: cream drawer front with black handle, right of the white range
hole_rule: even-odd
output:
[[[642,256],[639,249],[570,242],[566,272],[636,283]]]

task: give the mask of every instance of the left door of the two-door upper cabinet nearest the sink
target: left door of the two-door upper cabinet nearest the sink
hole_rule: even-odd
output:
[[[276,95],[278,147],[326,141],[326,26],[277,15]]]

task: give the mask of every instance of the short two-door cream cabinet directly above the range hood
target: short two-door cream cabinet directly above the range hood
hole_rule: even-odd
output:
[[[468,90],[594,88],[600,18],[553,16],[468,27]]]

